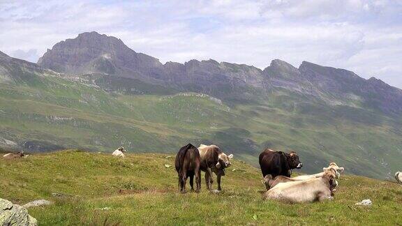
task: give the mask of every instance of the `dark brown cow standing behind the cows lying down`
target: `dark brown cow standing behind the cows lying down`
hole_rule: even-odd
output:
[[[300,162],[299,156],[294,151],[285,153],[265,149],[260,153],[260,167],[263,177],[267,174],[271,174],[272,178],[278,175],[290,177],[292,169],[300,169],[302,166],[303,163]]]

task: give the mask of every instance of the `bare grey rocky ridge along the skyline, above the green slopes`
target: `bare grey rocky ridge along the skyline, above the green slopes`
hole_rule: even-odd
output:
[[[179,91],[206,93],[218,98],[254,98],[282,88],[324,100],[330,105],[360,105],[387,114],[401,114],[402,90],[371,77],[365,80],[348,70],[303,61],[299,68],[281,60],[260,70],[235,63],[191,60],[168,62],[131,50],[114,37],[81,33],[61,41],[38,61],[59,73],[101,73],[172,87]]]

